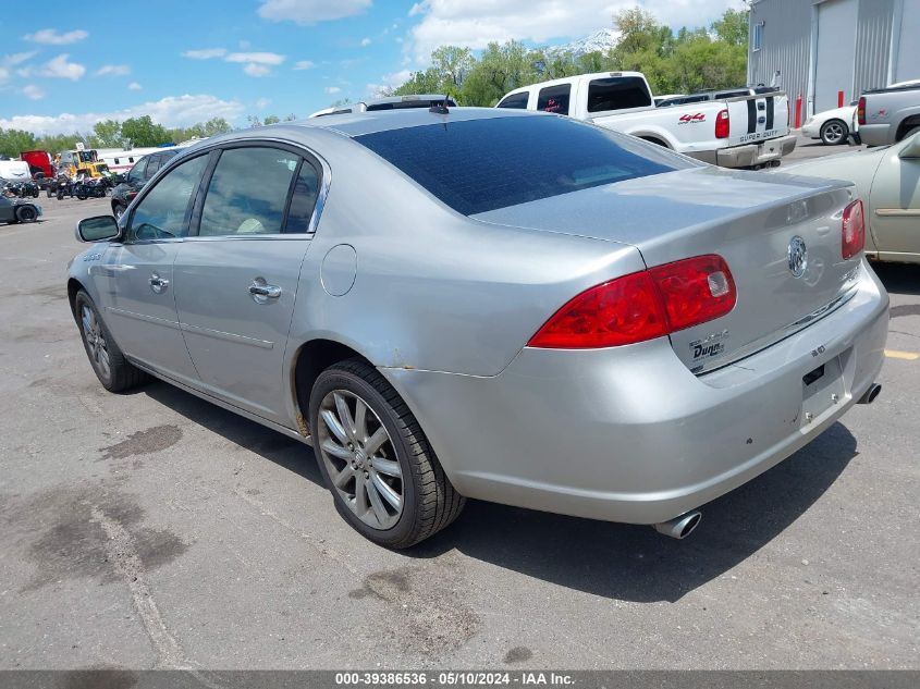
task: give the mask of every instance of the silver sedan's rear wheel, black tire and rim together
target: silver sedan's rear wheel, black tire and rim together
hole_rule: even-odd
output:
[[[449,526],[465,499],[421,427],[372,366],[326,369],[310,393],[314,452],[335,507],[361,536],[409,547]]]

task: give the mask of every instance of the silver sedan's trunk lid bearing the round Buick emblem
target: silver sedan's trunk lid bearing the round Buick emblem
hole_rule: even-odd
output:
[[[841,216],[850,200],[851,187],[838,182],[703,168],[475,218],[630,244],[648,267],[722,256],[737,288],[735,308],[671,334],[680,360],[703,372],[782,340],[845,300],[860,258],[844,260],[841,251]],[[807,251],[801,271],[789,257],[799,243]]]

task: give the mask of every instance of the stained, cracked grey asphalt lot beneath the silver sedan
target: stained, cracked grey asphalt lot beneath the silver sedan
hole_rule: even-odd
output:
[[[0,225],[0,668],[920,667],[920,267],[878,268],[875,404],[689,539],[471,502],[395,553],[308,447],[164,383],[107,393],[65,292],[107,200],[40,201]]]

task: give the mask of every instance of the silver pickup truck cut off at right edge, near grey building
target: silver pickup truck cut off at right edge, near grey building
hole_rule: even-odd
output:
[[[920,82],[864,91],[856,115],[863,144],[885,146],[906,139],[920,131]]]

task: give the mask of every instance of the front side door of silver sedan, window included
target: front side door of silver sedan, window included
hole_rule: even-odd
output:
[[[180,164],[147,189],[110,246],[94,280],[115,342],[131,358],[181,382],[197,376],[173,296],[173,262],[188,231],[208,156]]]

